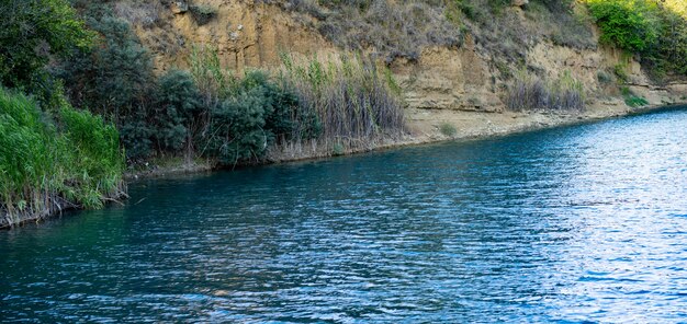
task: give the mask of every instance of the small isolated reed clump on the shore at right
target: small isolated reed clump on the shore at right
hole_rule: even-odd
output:
[[[553,82],[522,74],[509,88],[506,105],[516,112],[582,112],[584,86],[568,71]]]

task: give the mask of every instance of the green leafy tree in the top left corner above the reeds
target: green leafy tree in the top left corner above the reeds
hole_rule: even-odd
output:
[[[3,0],[0,16],[0,83],[41,100],[54,91],[45,71],[50,58],[89,48],[94,36],[67,0]]]

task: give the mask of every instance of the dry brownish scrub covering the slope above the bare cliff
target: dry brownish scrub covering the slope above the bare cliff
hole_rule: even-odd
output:
[[[428,46],[460,47],[466,34],[489,53],[520,61],[539,39],[594,48],[592,25],[573,11],[573,0],[530,0],[527,21],[511,0],[261,0],[284,3],[317,19],[330,42],[348,49],[372,49],[391,61],[415,60]]]

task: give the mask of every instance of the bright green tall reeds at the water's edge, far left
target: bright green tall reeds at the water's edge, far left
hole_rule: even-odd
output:
[[[53,118],[0,88],[0,228],[102,207],[123,193],[123,169],[114,126],[66,103]]]

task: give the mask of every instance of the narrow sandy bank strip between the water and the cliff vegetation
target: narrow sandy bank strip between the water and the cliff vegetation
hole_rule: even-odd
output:
[[[272,148],[264,164],[288,163],[295,161],[327,159],[337,155],[360,154],[371,151],[396,149],[401,147],[421,146],[450,140],[470,140],[500,137],[511,134],[532,131],[545,128],[593,123],[632,114],[649,113],[672,105],[684,105],[687,101],[673,101],[671,104],[630,107],[620,99],[594,100],[581,113],[542,113],[542,112],[469,112],[448,109],[408,108],[406,119],[408,132],[402,138],[379,139],[365,147],[345,149],[339,152],[324,151],[317,146],[302,144],[300,148]],[[450,125],[451,130],[447,130]],[[454,131],[454,132],[453,132]],[[451,134],[452,132],[452,134]],[[127,181],[151,177],[165,177],[179,174],[212,172],[216,170],[213,162],[196,159],[190,163],[183,159],[159,159],[149,163],[148,167],[129,171]]]

